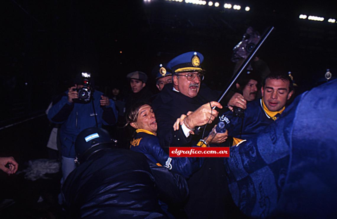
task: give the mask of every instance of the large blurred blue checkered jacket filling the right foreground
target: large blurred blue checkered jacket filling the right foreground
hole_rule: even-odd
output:
[[[252,218],[336,218],[337,79],[298,96],[225,158],[235,204]]]

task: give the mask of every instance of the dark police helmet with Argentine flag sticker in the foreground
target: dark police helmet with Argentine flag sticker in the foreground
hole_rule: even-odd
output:
[[[75,162],[82,163],[98,151],[112,148],[116,142],[110,137],[108,131],[102,128],[85,129],[80,132],[75,141]]]

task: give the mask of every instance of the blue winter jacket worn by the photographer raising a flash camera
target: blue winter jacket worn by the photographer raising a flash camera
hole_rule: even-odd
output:
[[[77,135],[84,129],[95,127],[95,114],[97,117],[98,127],[104,125],[113,125],[117,121],[118,112],[115,102],[111,99],[109,106],[100,106],[102,92],[95,90],[90,103],[69,103],[68,91],[63,93],[48,112],[48,119],[54,123],[62,124],[59,130],[61,141],[61,154],[65,157],[75,157],[74,143]]]

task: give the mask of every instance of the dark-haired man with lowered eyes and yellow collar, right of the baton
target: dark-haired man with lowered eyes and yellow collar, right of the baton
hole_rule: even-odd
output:
[[[234,137],[233,145],[241,139],[249,139],[259,133],[265,126],[275,121],[285,109],[287,101],[292,97],[293,82],[285,73],[269,74],[261,87],[262,98],[247,104],[244,115],[234,116],[234,112],[227,112],[220,117],[227,117],[228,135]]]

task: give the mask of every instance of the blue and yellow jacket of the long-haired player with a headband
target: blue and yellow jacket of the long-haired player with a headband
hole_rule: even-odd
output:
[[[169,157],[161,148],[157,136],[144,129],[136,130],[136,135],[130,142],[130,150],[145,154],[152,163],[165,166],[185,178],[189,178],[203,164],[203,159],[199,157]]]

